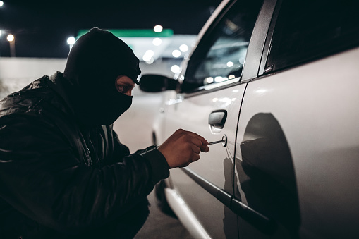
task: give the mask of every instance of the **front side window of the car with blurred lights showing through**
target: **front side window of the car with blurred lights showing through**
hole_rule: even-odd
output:
[[[183,92],[241,76],[262,2],[236,1],[219,23],[207,31],[188,63]]]

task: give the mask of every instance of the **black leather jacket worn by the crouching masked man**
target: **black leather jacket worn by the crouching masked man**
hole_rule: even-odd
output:
[[[126,237],[169,166],[155,147],[130,154],[112,125],[81,128],[61,77],[0,102],[0,238]]]

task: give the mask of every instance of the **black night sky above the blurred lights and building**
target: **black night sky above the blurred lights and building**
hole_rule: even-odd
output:
[[[0,8],[0,56],[10,56],[6,36],[16,37],[17,57],[66,58],[68,37],[78,30],[152,29],[196,35],[220,0],[4,1]]]

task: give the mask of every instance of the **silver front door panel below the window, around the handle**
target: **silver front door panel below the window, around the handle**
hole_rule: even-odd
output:
[[[198,133],[209,142],[221,140],[223,135],[227,136],[226,147],[223,147],[221,144],[210,145],[209,152],[202,153],[201,159],[190,164],[188,168],[198,176],[217,185],[217,187],[223,188],[230,195],[233,195],[233,155],[238,121],[237,116],[244,90],[245,84],[238,84],[205,95],[184,97],[177,101],[169,100],[165,109],[166,121],[164,125],[166,137],[169,137],[178,128]],[[208,117],[209,114],[217,110],[226,110],[227,120],[224,128],[214,133],[208,124]],[[186,178],[186,180],[183,180],[183,178]],[[228,221],[223,221],[225,217],[224,211],[227,210],[225,209],[226,206],[215,197],[198,204],[198,199],[202,197],[207,198],[209,192],[203,190],[197,183],[188,178],[188,176],[185,176],[185,173],[179,168],[171,170],[171,179],[174,188],[178,191],[179,195],[185,198],[185,203],[195,212],[197,219],[202,225],[207,226],[205,226],[205,229],[209,232],[209,235],[213,236],[213,238],[224,238],[224,235],[218,234],[224,232],[213,231],[213,228],[221,224],[223,225],[221,226],[222,228],[229,226]],[[226,212],[227,219],[228,214],[232,214],[231,216],[236,219],[236,215],[229,209],[228,211]],[[221,216],[214,218],[213,214]],[[227,224],[224,225],[224,222]],[[212,224],[217,226],[210,226]],[[236,220],[231,220],[230,224],[236,228]]]

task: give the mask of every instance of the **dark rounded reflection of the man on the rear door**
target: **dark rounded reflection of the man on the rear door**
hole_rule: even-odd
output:
[[[250,119],[241,152],[242,161],[236,170],[243,170],[238,175],[248,206],[296,235],[300,215],[293,160],[283,130],[272,114],[256,114]]]

